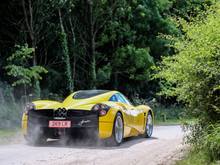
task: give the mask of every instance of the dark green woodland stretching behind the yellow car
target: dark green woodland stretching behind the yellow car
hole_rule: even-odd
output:
[[[197,15],[197,9],[205,10],[206,5],[207,0],[2,2],[0,79],[12,82],[15,89],[20,88],[19,84],[33,85],[37,95],[40,88],[66,96],[73,87],[78,90],[96,86],[118,89],[126,95],[140,93],[141,97],[151,97],[159,87],[157,81],[149,82],[151,70],[147,63],[157,63],[161,55],[173,54],[173,49],[167,46],[171,41],[162,38],[163,34],[181,33],[171,16],[188,18]],[[26,54],[27,67],[15,67],[22,66],[22,59],[18,57],[10,64],[6,60],[12,54],[14,43],[28,43],[34,48],[34,57],[27,52],[31,49],[21,52]],[[125,55],[127,52],[129,56]],[[32,66],[31,63],[47,68],[47,76],[37,73],[43,76],[42,80],[33,83],[31,77],[40,77],[36,74],[29,76],[35,72],[26,70]],[[8,65],[12,66],[5,72],[3,66]],[[118,68],[121,73],[118,73]],[[10,70],[11,76],[8,76]],[[54,83],[60,81],[64,83]]]

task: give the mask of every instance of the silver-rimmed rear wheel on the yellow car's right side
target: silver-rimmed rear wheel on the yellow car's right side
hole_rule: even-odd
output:
[[[110,142],[110,144],[113,146],[118,146],[122,143],[123,137],[124,122],[122,115],[120,113],[117,113],[113,124],[112,137],[109,139],[108,142]]]

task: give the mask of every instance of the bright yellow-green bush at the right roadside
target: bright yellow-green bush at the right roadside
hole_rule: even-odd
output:
[[[180,19],[184,31],[173,37],[176,55],[164,57],[155,78],[162,81],[161,95],[177,97],[188,106],[187,113],[198,118],[187,125],[186,142],[193,145],[192,164],[210,164],[220,160],[220,3],[187,22]],[[172,37],[170,37],[172,38]],[[198,160],[198,156],[203,158]],[[186,160],[187,164],[187,160]]]

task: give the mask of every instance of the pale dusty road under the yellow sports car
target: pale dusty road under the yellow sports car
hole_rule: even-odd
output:
[[[12,144],[0,146],[1,165],[167,165],[183,146],[180,126],[157,126],[153,137],[129,138],[119,147],[84,141],[65,146],[50,141],[46,146]]]

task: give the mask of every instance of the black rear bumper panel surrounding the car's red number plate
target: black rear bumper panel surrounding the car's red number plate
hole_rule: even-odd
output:
[[[27,116],[27,135],[43,134],[48,138],[61,136],[98,136],[99,117],[96,112],[85,110],[68,110],[66,114],[57,115],[57,110],[29,111]],[[70,121],[70,128],[50,128],[49,121]],[[25,122],[25,121],[23,121]]]

